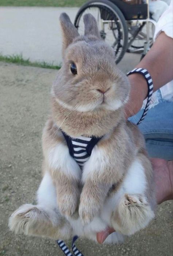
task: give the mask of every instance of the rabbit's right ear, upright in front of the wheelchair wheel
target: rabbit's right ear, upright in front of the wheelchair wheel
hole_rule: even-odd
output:
[[[84,25],[85,25],[85,36],[93,35],[100,38],[97,22],[93,15],[91,14],[84,15]]]

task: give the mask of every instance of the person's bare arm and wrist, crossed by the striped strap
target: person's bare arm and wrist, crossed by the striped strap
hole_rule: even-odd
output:
[[[163,44],[164,42],[164,44]],[[146,68],[153,79],[154,91],[173,79],[173,39],[161,32],[147,55],[136,68]],[[147,82],[141,74],[128,76],[131,91],[125,107],[126,118],[137,114],[147,97]]]

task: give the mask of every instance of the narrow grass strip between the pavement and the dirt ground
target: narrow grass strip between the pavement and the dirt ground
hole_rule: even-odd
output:
[[[22,55],[8,55],[8,56],[0,55],[0,61],[16,63],[23,66],[53,68],[53,69],[61,68],[60,66],[55,66],[53,63],[49,64],[47,62],[30,62],[29,59],[27,60],[23,59]]]

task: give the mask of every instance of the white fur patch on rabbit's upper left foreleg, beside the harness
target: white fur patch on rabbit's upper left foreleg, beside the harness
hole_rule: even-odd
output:
[[[69,177],[74,177],[79,180],[81,177],[81,170],[76,161],[69,155],[68,146],[59,143],[53,148],[49,149],[48,163],[54,170],[61,170]]]

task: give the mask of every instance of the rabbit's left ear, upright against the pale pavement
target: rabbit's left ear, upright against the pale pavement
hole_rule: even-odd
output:
[[[62,41],[63,41],[63,52],[68,47],[69,44],[72,43],[73,39],[79,36],[79,33],[76,27],[70,21],[69,16],[63,12],[60,17],[59,21],[61,24],[62,29]]]

